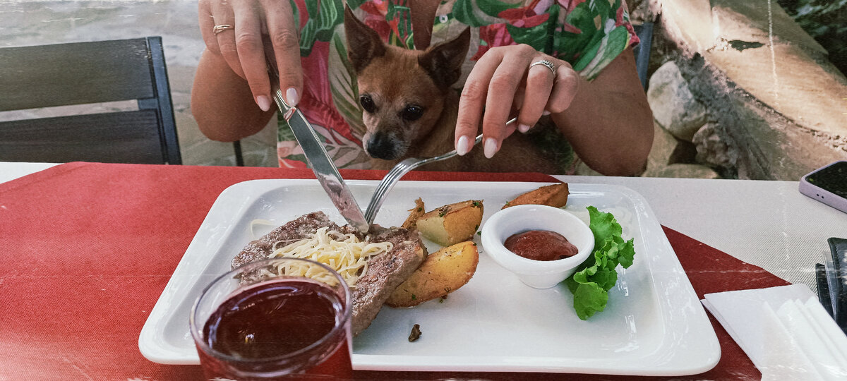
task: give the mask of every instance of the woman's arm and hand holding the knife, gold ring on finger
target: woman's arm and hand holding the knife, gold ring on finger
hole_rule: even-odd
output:
[[[280,70],[291,106],[302,91],[297,24],[287,1],[199,0],[197,17],[206,50],[197,65],[191,113],[204,135],[237,141],[257,133],[274,114],[267,59]],[[266,111],[262,111],[266,110]]]

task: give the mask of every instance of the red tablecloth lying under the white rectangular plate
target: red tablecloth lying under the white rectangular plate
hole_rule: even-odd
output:
[[[344,171],[348,179],[385,172]],[[307,170],[68,163],[0,184],[0,380],[200,379],[197,366],[149,362],[138,334],[219,193]],[[413,172],[404,179],[554,181],[544,174]],[[697,295],[787,284],[665,229]],[[722,358],[675,379],[757,379],[712,319]],[[538,373],[357,372],[373,379],[630,379]]]

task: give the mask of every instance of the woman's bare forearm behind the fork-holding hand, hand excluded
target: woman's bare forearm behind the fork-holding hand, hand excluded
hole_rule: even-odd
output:
[[[573,101],[551,118],[573,150],[606,175],[644,171],[653,144],[653,113],[635,70],[631,48],[592,81],[579,78]]]

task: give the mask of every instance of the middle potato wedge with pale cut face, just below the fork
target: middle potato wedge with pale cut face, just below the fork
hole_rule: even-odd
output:
[[[425,238],[451,246],[473,238],[482,223],[482,213],[482,201],[468,200],[427,212],[415,224]]]

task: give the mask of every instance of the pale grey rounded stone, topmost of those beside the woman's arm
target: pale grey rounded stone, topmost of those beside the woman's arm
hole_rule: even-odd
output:
[[[684,141],[691,141],[706,123],[706,108],[697,102],[673,61],[663,64],[650,77],[647,101],[656,122]]]

